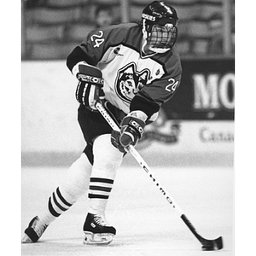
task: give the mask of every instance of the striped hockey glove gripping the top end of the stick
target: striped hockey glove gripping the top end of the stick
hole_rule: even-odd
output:
[[[104,80],[102,72],[97,67],[79,64],[77,73],[79,84],[76,90],[76,99],[90,111],[97,111],[96,102],[102,102],[104,92],[102,90]]]

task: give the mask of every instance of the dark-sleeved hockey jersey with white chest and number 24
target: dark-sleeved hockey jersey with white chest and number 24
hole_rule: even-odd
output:
[[[150,117],[177,90],[182,67],[174,49],[145,55],[142,42],[141,27],[133,23],[92,31],[67,57],[67,67],[72,70],[79,61],[98,67],[113,106],[125,113],[142,110]]]

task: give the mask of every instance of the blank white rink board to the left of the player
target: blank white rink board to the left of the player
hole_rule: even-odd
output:
[[[22,151],[80,151],[78,82],[65,61],[23,61],[21,67]]]

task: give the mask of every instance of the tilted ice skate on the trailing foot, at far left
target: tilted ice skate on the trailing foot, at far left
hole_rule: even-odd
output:
[[[42,223],[38,216],[32,218],[31,222],[28,224],[28,227],[24,231],[25,236],[22,238],[22,243],[36,242],[43,235],[44,230],[48,225]]]

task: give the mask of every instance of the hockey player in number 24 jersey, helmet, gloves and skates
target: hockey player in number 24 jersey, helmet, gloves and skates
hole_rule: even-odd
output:
[[[182,67],[173,46],[177,12],[154,1],[143,9],[142,24],[119,24],[90,32],[67,56],[67,67],[79,79],[79,125],[86,147],[49,196],[43,212],[32,218],[22,242],[36,242],[49,224],[89,189],[90,207],[84,221],[84,244],[108,244],[116,230],[105,210],[116,172],[136,145],[143,128],[157,118],[162,103],[177,90]],[[120,125],[112,131],[96,102],[102,102]]]

